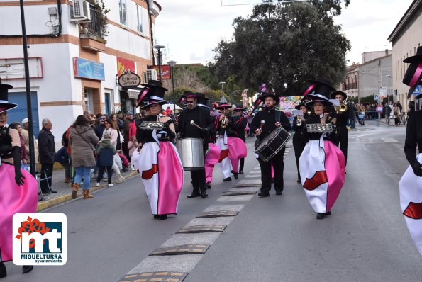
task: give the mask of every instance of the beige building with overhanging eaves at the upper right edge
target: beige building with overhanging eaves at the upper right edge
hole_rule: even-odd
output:
[[[407,111],[407,93],[409,86],[403,84],[403,77],[409,64],[403,62],[406,57],[416,54],[416,49],[422,41],[422,0],[414,0],[401,17],[399,23],[389,35],[388,40],[393,44],[393,76],[394,101],[400,101]],[[410,98],[412,101],[414,96]],[[422,99],[420,99],[422,100]],[[422,101],[418,101],[418,108],[422,108]]]

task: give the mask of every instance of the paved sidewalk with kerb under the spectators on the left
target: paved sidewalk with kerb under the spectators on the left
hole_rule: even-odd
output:
[[[122,172],[121,175],[125,178],[124,181],[127,179],[131,179],[134,176],[138,175],[137,171],[126,171]],[[123,182],[124,182],[123,181]],[[113,174],[113,184],[116,184],[116,174]],[[99,190],[100,188],[106,188],[107,182],[101,181],[100,186],[96,187],[96,179],[91,179],[91,185],[90,185],[90,192]],[[47,208],[51,208],[55,205],[59,205],[60,203],[65,203],[67,201],[72,200],[72,186],[69,186],[69,184],[65,183],[65,170],[64,169],[55,169],[52,173],[52,184],[51,188],[54,191],[57,191],[57,193],[52,194],[43,194],[43,200],[38,201],[38,208],[37,211],[45,210]],[[77,198],[81,198],[82,188],[79,188],[78,196]]]

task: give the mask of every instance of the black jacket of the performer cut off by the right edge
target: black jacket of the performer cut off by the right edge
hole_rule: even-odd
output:
[[[411,166],[418,162],[416,159],[416,146],[419,153],[422,153],[422,111],[414,111],[409,115],[407,122],[404,154],[406,154],[406,159]]]

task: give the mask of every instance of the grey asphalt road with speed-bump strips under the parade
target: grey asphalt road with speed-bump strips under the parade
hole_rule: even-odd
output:
[[[164,270],[188,272],[184,281],[421,281],[421,258],[399,207],[398,182],[407,167],[404,133],[404,127],[377,127],[371,121],[350,131],[345,186],[324,220],[316,220],[296,184],[292,149],[284,159],[282,196],[272,190],[269,198],[221,197],[240,181],[259,181],[249,147],[245,174],[223,183],[216,169],[208,199],[187,199],[186,177],[179,214],[167,220],[152,218],[138,177],[89,201],[45,210],[67,215],[67,264],[38,266],[22,275],[20,267],[7,263],[4,281],[118,281],[126,273]],[[248,142],[251,146],[253,140]],[[195,218],[206,209],[239,213]],[[227,227],[220,233],[175,235],[185,225],[206,222]],[[210,247],[205,254],[148,256],[160,246],[182,242]]]

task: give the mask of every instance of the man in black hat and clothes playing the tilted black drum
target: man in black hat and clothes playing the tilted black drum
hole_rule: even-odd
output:
[[[279,102],[279,97],[274,93],[263,92],[260,99],[264,101],[265,108],[262,111],[258,111],[252,120],[250,130],[254,130],[257,138],[262,141],[270,133],[282,126],[285,130],[290,131],[291,125],[286,114],[282,111],[277,111],[275,106]],[[265,121],[264,125],[261,126],[261,120]],[[258,193],[260,197],[270,196],[271,190],[271,165],[274,167],[274,189],[276,195],[283,194],[284,181],[283,181],[283,170],[284,170],[284,150],[280,150],[270,162],[264,162],[258,157],[261,167],[261,191]]]

